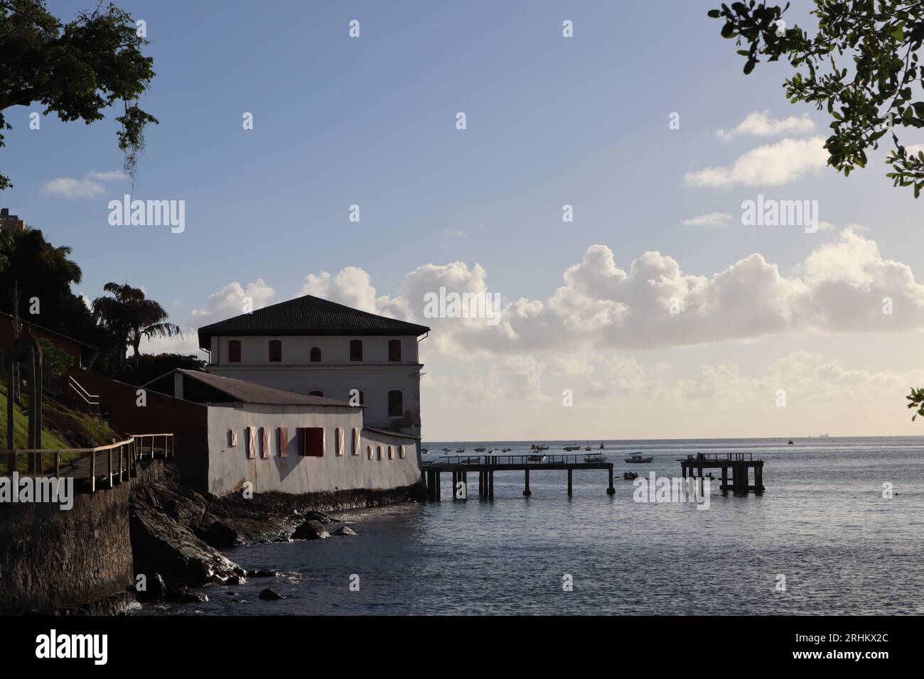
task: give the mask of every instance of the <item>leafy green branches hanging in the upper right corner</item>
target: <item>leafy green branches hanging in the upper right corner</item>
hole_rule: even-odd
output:
[[[924,41],[924,3],[920,0],[815,0],[811,12],[818,30],[787,27],[785,6],[750,0],[723,4],[709,16],[722,18],[724,38],[735,39],[747,75],[762,60],[786,59],[796,74],[784,80],[791,103],[815,104],[832,116],[825,141],[828,164],[845,176],[865,167],[867,152],[889,135],[886,159],[894,186],[924,188],[924,152],[909,150],[901,127],[924,127],[924,67],[918,51]]]

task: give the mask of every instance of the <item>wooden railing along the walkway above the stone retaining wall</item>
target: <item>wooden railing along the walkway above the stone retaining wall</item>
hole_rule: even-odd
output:
[[[161,443],[161,445],[158,446],[158,443]],[[116,459],[114,459],[116,450],[118,452],[117,463]],[[161,455],[157,455],[158,451],[160,451]],[[145,452],[147,452],[147,455],[145,455]],[[132,476],[137,474],[138,460],[144,459],[145,457],[153,459],[157,456],[176,456],[176,444],[172,433],[132,434],[125,441],[109,443],[108,445],[97,445],[92,448],[20,448],[18,450],[0,451],[0,455],[7,455],[7,469],[10,475],[12,475],[17,468],[19,455],[26,455],[27,459],[29,455],[32,455],[32,467],[35,471],[27,472],[27,476],[55,476],[55,478],[61,477],[61,455],[76,455],[79,459],[76,462],[72,462],[71,465],[75,467],[75,471],[79,473],[71,474],[71,476],[75,479],[89,479],[90,491],[96,492],[96,479],[98,476],[103,476],[97,472],[97,468],[99,467],[97,457],[99,455],[103,455],[103,464],[106,466],[104,476],[108,477],[108,487],[112,488],[115,484],[116,477],[121,483],[125,480],[126,474],[128,474],[128,479],[131,479]],[[51,455],[54,460],[54,475],[44,473],[45,455]],[[88,458],[89,462],[84,463],[84,460]],[[114,464],[117,464],[118,467],[114,468]]]

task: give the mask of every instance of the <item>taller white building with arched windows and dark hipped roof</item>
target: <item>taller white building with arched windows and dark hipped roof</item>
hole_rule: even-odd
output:
[[[367,427],[419,436],[429,332],[308,295],[200,328],[199,346],[214,375],[362,405]]]

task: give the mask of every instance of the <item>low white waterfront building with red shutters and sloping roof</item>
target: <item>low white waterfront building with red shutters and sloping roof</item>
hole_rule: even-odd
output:
[[[249,483],[254,492],[342,493],[354,502],[419,482],[419,438],[365,426],[362,406],[196,370],[173,370],[145,389],[145,423],[184,423],[191,433],[175,462],[214,495]],[[171,407],[154,394],[172,397]]]

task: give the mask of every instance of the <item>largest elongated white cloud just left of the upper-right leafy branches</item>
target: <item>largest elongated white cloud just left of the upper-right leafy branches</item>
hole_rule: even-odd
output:
[[[824,139],[780,139],[752,149],[734,164],[687,172],[689,187],[777,186],[820,170],[828,162]]]

